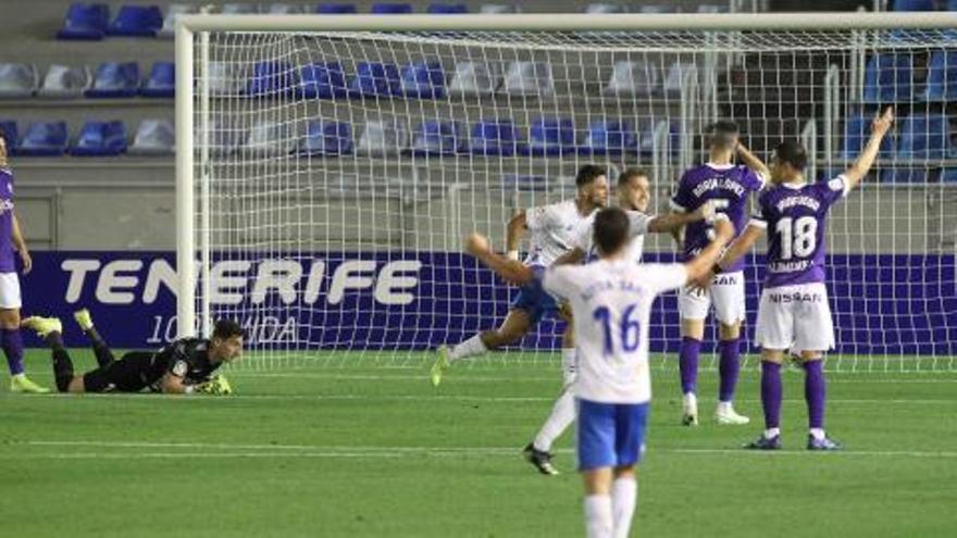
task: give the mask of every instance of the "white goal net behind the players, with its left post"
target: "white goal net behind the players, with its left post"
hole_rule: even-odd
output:
[[[462,32],[419,20],[405,32],[181,33],[178,121],[192,128],[181,133],[179,249],[199,262],[179,289],[184,330],[240,321],[245,367],[418,364],[497,327],[518,293],[461,253],[464,235],[504,250],[508,220],[573,198],[581,165],[607,166],[612,186],[645,168],[649,211],[663,213],[718,118],[766,161],[799,139],[819,182],[893,104],[878,164],[831,213],[828,364],[957,367],[954,32],[594,29],[588,17]],[[669,236],[646,238],[646,261],[675,251]],[[745,354],[757,352],[762,253],[745,273]],[[675,295],[651,323],[656,362],[674,365]],[[488,362],[555,361],[560,333],[545,320]]]

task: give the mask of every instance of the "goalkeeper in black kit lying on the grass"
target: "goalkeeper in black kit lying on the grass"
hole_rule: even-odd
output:
[[[224,362],[243,351],[245,331],[236,323],[216,322],[212,338],[182,338],[159,351],[128,351],[120,360],[94,328],[89,312],[73,314],[89,337],[100,367],[80,376],[73,374],[73,361],[63,347],[63,324],[55,317],[27,317],[23,326],[37,331],[53,350],[53,376],[61,392],[153,392],[229,395],[229,383],[213,375]]]

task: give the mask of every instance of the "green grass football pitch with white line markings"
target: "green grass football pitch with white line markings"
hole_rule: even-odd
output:
[[[91,358],[77,351],[77,371]],[[231,372],[232,398],[0,396],[0,536],[582,536],[571,433],[558,477],[521,458],[557,365]],[[30,352],[52,385],[47,353]],[[785,451],[747,427],[679,426],[676,374],[655,371],[633,536],[945,537],[957,510],[957,375],[831,374],[829,430],[804,450],[803,376],[785,374]],[[703,373],[703,413],[716,375]],[[4,387],[5,388],[5,387]]]

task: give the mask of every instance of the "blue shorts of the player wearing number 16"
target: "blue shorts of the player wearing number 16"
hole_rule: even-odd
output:
[[[635,465],[645,452],[648,403],[579,400],[579,471]]]

